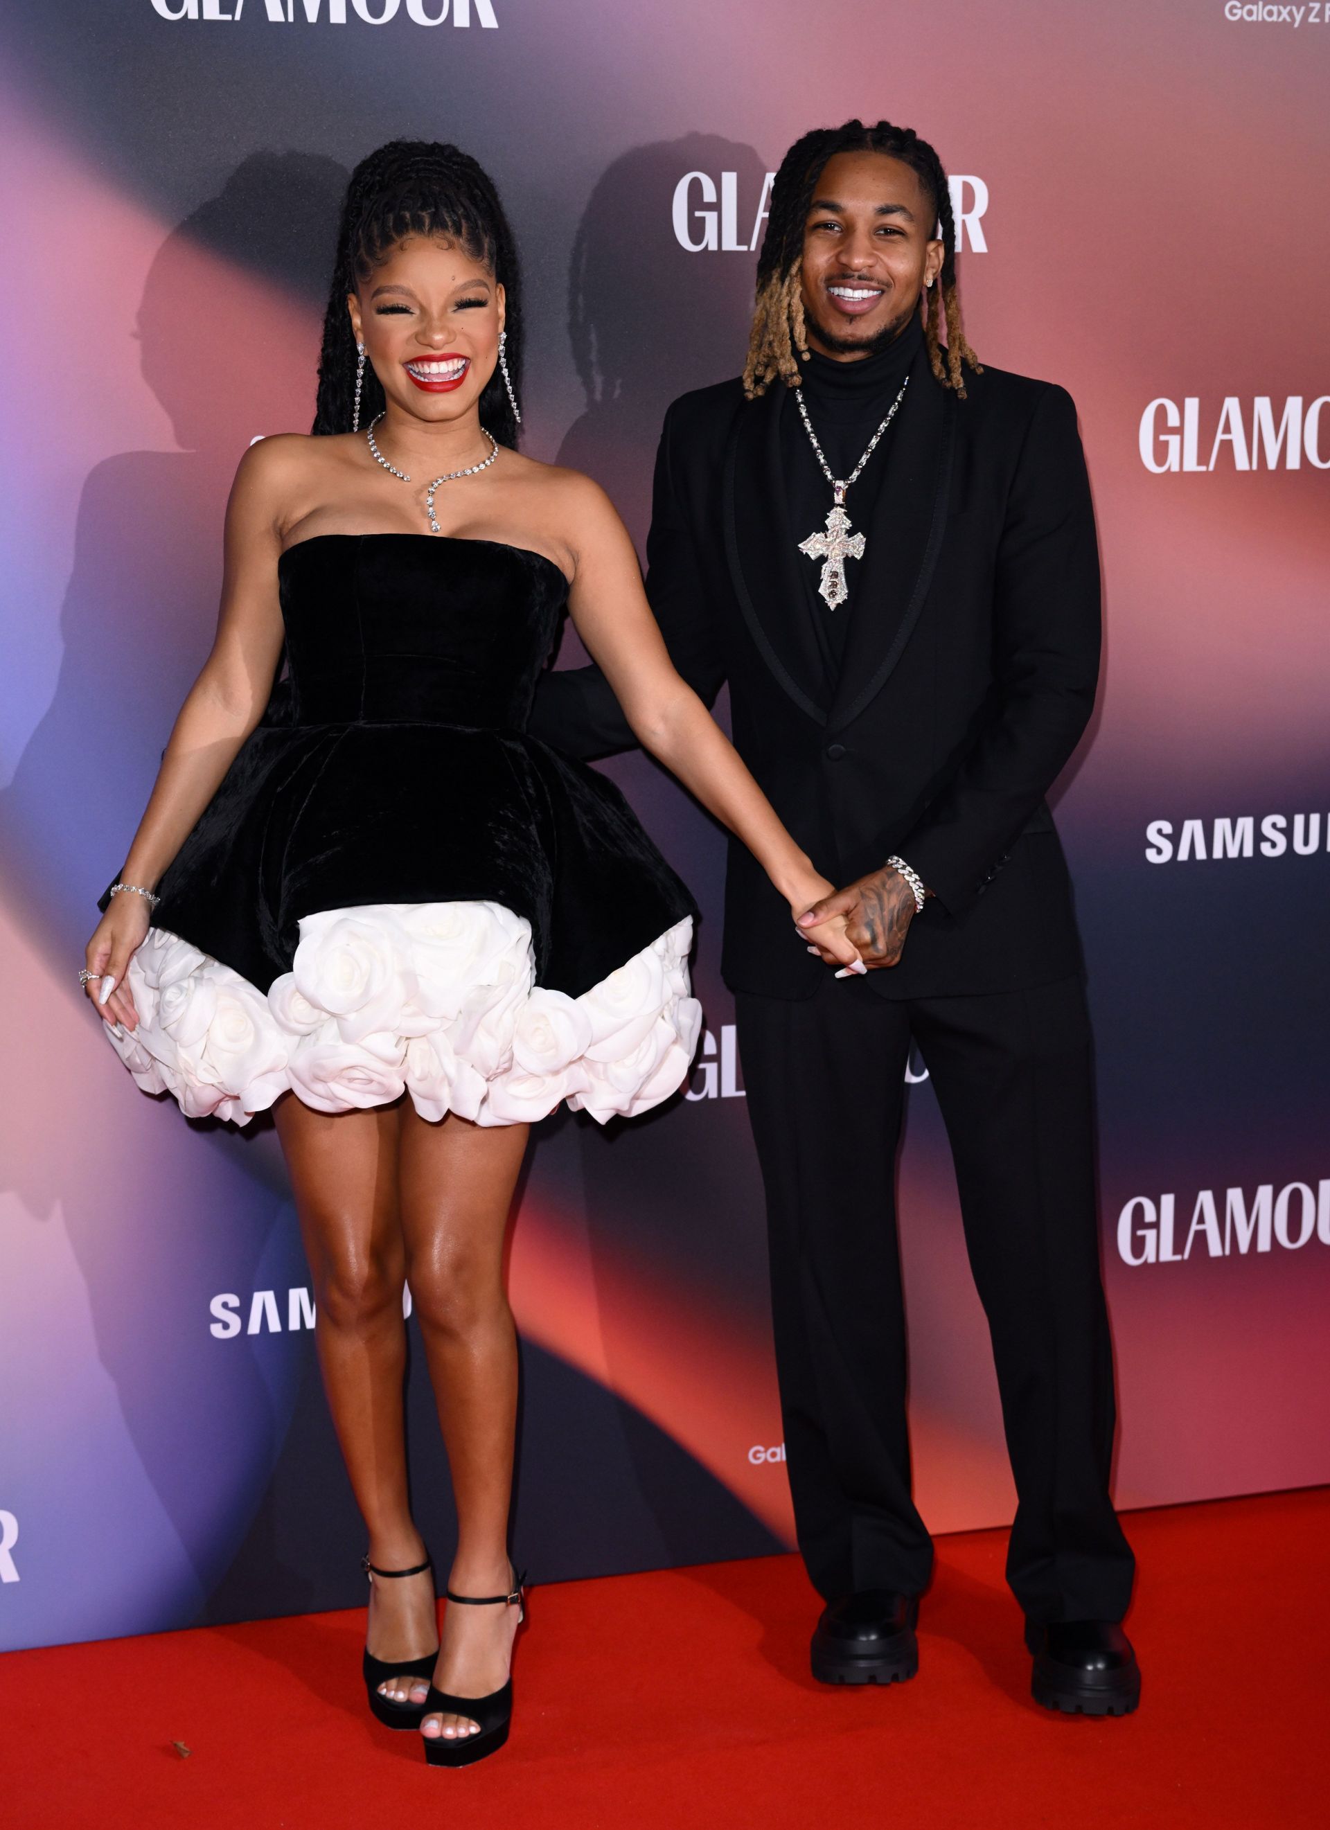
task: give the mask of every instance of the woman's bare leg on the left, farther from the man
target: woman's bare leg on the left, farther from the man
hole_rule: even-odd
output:
[[[408,1570],[424,1559],[406,1490],[402,1378],[406,1246],[397,1206],[401,1105],[315,1113],[287,1093],[274,1107],[315,1285],[315,1341],[327,1405],[370,1561]],[[423,1658],[437,1642],[434,1579],[375,1581],[368,1647],[375,1658]],[[406,1700],[410,1676],[381,1685]]]

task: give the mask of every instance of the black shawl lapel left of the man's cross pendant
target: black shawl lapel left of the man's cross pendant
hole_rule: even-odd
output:
[[[785,392],[774,382],[735,417],[724,454],[724,551],[757,651],[799,710],[825,725],[823,662],[809,628],[781,468]]]

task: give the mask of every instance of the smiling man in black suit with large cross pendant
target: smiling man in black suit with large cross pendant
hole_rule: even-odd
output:
[[[670,408],[648,560],[675,666],[708,703],[728,679],[739,754],[847,884],[818,913],[843,911],[862,955],[862,977],[810,957],[732,845],[723,972],[794,1515],[827,1601],[814,1676],[918,1662],[931,1545],[895,1232],[913,1038],[993,1341],[1034,1695],[1121,1715],[1140,1671],[1109,1499],[1090,1030],[1045,802],[1094,705],[1094,512],[1070,397],[966,342],[946,176],[913,132],[851,121],[787,154],[743,382]],[[633,741],[595,668],[547,675],[532,728],[584,756]]]

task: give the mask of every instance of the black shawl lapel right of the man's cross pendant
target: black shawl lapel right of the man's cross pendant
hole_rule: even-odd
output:
[[[911,437],[907,450],[893,454],[906,461],[893,463],[891,489],[878,490],[873,518],[863,529],[863,560],[851,562],[862,569],[854,586],[854,620],[845,662],[827,717],[832,730],[853,725],[891,679],[918,622],[942,551],[957,401],[933,377],[926,350],[920,350],[909,371],[909,395]],[[853,520],[853,492],[845,505]]]

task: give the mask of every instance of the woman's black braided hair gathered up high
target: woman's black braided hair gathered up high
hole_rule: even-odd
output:
[[[318,408],[315,432],[349,432],[355,403],[355,337],[346,309],[357,282],[408,234],[441,234],[483,262],[503,287],[505,361],[512,386],[521,377],[521,276],[518,251],[499,196],[479,165],[428,139],[393,139],[351,172],[337,231],[337,262],[324,315],[324,346],[318,357]],[[366,362],[360,390],[360,425],[368,426],[384,408],[379,377]],[[498,364],[479,399],[481,425],[499,445],[518,443],[518,423],[509,404]]]

